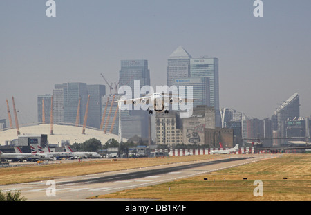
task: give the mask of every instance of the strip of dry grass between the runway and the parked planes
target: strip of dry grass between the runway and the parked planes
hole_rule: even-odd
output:
[[[105,171],[133,169],[155,165],[166,165],[173,162],[205,160],[213,156],[183,156],[164,158],[128,158],[92,160],[88,162],[62,162],[49,165],[32,165],[24,167],[0,168],[0,185],[26,183],[38,180],[55,179],[64,176],[80,176]]]

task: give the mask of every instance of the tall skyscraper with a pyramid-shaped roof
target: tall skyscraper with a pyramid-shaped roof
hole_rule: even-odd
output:
[[[167,60],[167,86],[174,85],[174,79],[190,77],[191,55],[179,46]]]

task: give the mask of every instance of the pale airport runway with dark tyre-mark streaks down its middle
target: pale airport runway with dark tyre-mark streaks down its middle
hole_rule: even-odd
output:
[[[87,200],[86,198],[91,196],[109,194],[135,187],[156,185],[267,158],[272,158],[272,155],[228,155],[225,158],[221,157],[196,162],[57,178],[54,180],[55,187],[45,180],[33,183],[1,185],[0,189],[4,192],[19,190],[21,191],[21,196],[25,196],[30,201]],[[55,191],[55,196],[51,192],[52,189]]]

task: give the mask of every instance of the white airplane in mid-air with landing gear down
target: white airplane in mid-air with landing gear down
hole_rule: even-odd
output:
[[[153,111],[169,113],[169,105],[167,105],[167,102],[171,104],[178,102],[180,104],[182,102],[191,102],[194,100],[198,99],[186,99],[182,97],[174,97],[173,94],[167,93],[152,93],[144,95],[144,97],[138,97],[129,100],[118,100],[116,102],[123,102],[123,104],[129,104],[128,102],[132,104],[138,104],[138,102],[141,102],[142,105],[147,106],[149,105],[147,110],[149,114],[152,114]]]

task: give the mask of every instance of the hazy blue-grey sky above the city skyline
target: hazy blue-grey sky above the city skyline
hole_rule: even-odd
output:
[[[106,84],[121,59],[147,59],[151,85],[166,84],[167,58],[178,46],[219,59],[220,107],[270,118],[299,93],[311,114],[311,1],[253,0],[0,1],[0,118],[15,97],[19,118],[37,122],[37,95],[54,84]]]

